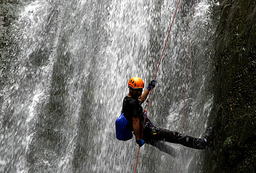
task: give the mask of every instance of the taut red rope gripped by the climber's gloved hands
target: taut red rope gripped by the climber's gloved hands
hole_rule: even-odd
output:
[[[176,8],[175,14],[174,14],[174,16],[173,16],[173,21],[174,21],[174,19],[175,19],[175,16],[176,16],[177,9],[178,9],[178,7],[179,7],[179,2],[180,2],[180,1],[181,1],[181,0],[178,1],[177,8]],[[173,21],[171,22],[171,27],[173,26]],[[171,32],[171,27],[170,27],[170,29],[169,29],[169,33],[168,33],[167,39],[166,39],[166,41],[165,41],[165,46],[163,47],[163,52],[165,51],[165,47],[166,47],[166,44],[167,44],[167,41],[168,41],[168,38],[169,38],[169,35],[170,35],[170,32]],[[155,80],[155,78],[157,77],[157,72],[158,72],[158,69],[159,69],[159,66],[160,66],[162,57],[163,57],[163,52],[162,52],[161,58],[160,58],[160,60],[159,60],[158,66],[157,66],[157,71],[156,71],[156,73],[155,73],[154,80]],[[149,98],[150,98],[150,95],[151,95],[151,91],[152,91],[152,88],[151,88],[151,90],[150,90],[150,92],[149,92]],[[147,109],[149,108],[149,98],[147,99],[147,100],[148,100],[148,101],[147,101]],[[145,118],[144,118],[144,122],[143,122],[143,127],[144,127],[144,124],[145,124],[146,117],[147,117],[147,110],[146,110],[146,112],[145,112]],[[142,128],[142,133],[141,133],[141,139],[143,139],[143,128]],[[139,146],[139,148],[140,148],[140,146]],[[137,153],[137,159],[136,159],[136,164],[135,164],[134,173],[136,172],[138,158],[139,158],[139,149],[138,149],[138,153]]]

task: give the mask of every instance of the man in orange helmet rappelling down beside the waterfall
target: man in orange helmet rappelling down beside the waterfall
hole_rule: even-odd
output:
[[[119,140],[130,140],[135,135],[136,143],[141,147],[150,144],[173,156],[173,148],[162,142],[181,144],[189,148],[205,149],[213,142],[213,128],[209,128],[203,138],[194,138],[179,132],[159,128],[147,117],[141,104],[146,100],[149,91],[155,87],[151,81],[143,92],[144,83],[139,77],[129,79],[129,93],[123,98],[121,116],[115,122],[116,137]]]

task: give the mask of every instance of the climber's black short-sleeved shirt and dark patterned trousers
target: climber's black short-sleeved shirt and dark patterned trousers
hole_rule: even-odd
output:
[[[133,116],[139,117],[141,127],[140,129],[142,134],[145,116],[139,100],[136,100],[135,98],[131,98],[129,96],[125,96],[125,98],[123,99],[122,111],[125,118],[129,121],[129,128],[131,128],[131,130],[133,130]],[[156,127],[151,123],[149,118],[146,118],[145,120],[143,129],[143,140],[145,140],[145,143],[156,146],[160,150],[163,150],[163,148],[161,148],[162,145],[158,141],[182,144],[183,146],[195,149],[205,149],[207,146],[207,142],[204,140],[204,138],[193,138],[191,136],[180,134],[179,132]]]

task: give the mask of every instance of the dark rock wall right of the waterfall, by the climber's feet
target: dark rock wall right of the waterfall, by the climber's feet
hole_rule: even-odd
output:
[[[205,172],[256,172],[256,1],[219,3],[215,140]]]

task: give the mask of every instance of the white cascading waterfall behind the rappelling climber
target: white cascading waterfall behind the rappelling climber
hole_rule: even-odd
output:
[[[127,81],[151,81],[177,1],[21,1],[11,26],[1,90],[0,172],[133,172],[138,146],[115,138]],[[213,101],[210,0],[179,5],[148,116],[201,137]],[[201,150],[170,144],[173,158],[145,144],[137,172],[200,172]],[[193,164],[191,164],[193,163]]]

